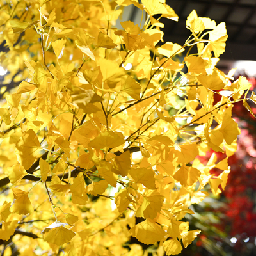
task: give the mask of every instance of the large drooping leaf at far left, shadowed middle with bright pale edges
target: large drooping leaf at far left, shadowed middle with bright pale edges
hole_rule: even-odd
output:
[[[42,150],[35,132],[31,129],[25,132],[15,147],[17,148],[18,161],[26,170],[31,167],[38,157],[38,153]]]

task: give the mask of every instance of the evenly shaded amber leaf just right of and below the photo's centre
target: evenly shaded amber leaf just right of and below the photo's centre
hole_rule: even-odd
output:
[[[141,183],[148,189],[156,189],[154,171],[147,168],[135,168],[129,171],[134,182]]]

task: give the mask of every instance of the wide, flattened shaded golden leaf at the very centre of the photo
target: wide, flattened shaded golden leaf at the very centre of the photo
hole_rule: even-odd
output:
[[[121,132],[105,131],[100,133],[88,146],[96,149],[115,148],[125,143],[124,135]]]

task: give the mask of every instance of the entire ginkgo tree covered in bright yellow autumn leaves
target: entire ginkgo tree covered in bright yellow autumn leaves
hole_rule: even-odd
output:
[[[141,24],[118,30],[130,4]],[[179,45],[163,42],[164,19],[178,20],[164,0],[1,1],[4,256],[141,255],[139,242],[176,255],[200,233],[182,218],[207,184],[225,188],[232,108],[256,97],[216,68],[225,23],[193,10]],[[202,164],[211,150],[227,157]]]

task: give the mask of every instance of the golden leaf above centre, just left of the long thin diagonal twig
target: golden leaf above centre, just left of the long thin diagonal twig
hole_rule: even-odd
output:
[[[133,99],[140,99],[141,86],[131,76],[122,77],[121,92],[129,94]]]

